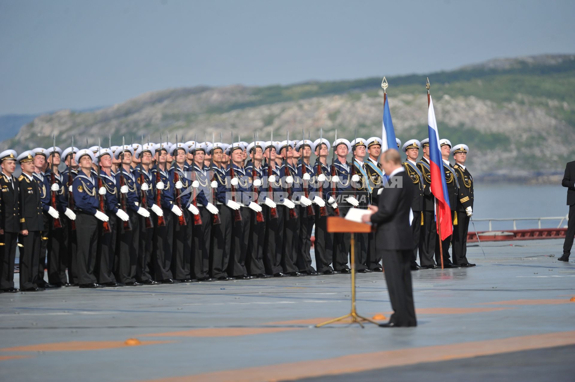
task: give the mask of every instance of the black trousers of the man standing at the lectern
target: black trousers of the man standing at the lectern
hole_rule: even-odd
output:
[[[413,250],[383,249],[385,282],[388,285],[389,300],[393,314],[389,322],[396,325],[415,326],[415,306],[413,305],[413,287],[411,283],[411,260]]]

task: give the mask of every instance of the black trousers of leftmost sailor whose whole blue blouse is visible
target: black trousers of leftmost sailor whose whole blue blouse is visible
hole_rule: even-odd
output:
[[[97,283],[94,275],[98,253],[98,226],[101,222],[92,214],[76,211],[76,237],[78,258],[75,269],[78,284]]]

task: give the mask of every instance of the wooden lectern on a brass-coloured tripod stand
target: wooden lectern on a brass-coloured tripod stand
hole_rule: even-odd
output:
[[[354,233],[370,233],[374,226],[366,223],[356,223],[340,217],[328,217],[327,218],[327,231],[328,232],[342,232],[351,233],[351,312],[338,318],[331,319],[316,325],[316,327],[328,325],[329,323],[342,321],[348,317],[351,317],[351,322],[357,322],[359,326],[363,327],[362,321],[367,321],[379,325],[369,318],[362,317],[355,311],[355,235]]]

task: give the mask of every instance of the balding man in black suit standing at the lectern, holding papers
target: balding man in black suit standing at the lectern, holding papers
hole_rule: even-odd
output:
[[[379,326],[417,326],[410,272],[413,236],[409,210],[413,188],[408,186],[412,179],[405,173],[396,149],[389,149],[381,155],[381,165],[389,181],[379,195],[378,207],[370,206],[371,215],[366,214],[362,218],[364,222],[377,224],[375,237],[381,243],[377,250],[381,251],[385,281],[393,308],[389,322]]]

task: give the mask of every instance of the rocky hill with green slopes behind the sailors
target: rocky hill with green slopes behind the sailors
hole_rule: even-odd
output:
[[[490,60],[459,70],[428,75],[389,76],[388,97],[396,135],[405,141],[427,136],[429,76],[436,118],[442,137],[470,146],[474,173],[513,176],[562,171],[573,160],[575,142],[575,55],[545,55]],[[17,151],[51,144],[60,146],[108,142],[125,136],[127,143],[160,132],[192,140],[242,140],[312,137],[350,140],[381,134],[383,94],[381,78],[337,82],[305,82],[290,86],[193,87],[154,91],[101,110],[79,113],[61,110],[41,115],[22,126],[2,147]],[[285,138],[284,138],[285,139]]]

